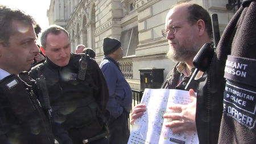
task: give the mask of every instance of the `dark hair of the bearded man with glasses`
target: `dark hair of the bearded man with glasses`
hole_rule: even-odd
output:
[[[188,23],[195,24],[197,20],[203,19],[209,37],[212,37],[212,20],[209,12],[197,4],[188,6]]]

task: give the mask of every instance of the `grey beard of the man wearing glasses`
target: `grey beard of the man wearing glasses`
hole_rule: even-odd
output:
[[[195,57],[199,49],[199,46],[191,46],[191,48],[181,46],[175,50],[170,46],[167,57],[174,61],[184,62],[188,58]]]

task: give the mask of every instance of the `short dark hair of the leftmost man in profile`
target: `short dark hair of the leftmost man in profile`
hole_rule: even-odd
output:
[[[10,36],[14,33],[13,20],[17,20],[27,25],[36,25],[36,22],[31,15],[28,15],[19,9],[11,9],[10,7],[0,5],[0,43],[4,46],[10,44]]]

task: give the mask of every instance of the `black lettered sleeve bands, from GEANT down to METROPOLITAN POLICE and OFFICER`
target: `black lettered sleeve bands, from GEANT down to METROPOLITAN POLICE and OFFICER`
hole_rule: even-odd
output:
[[[256,60],[228,55],[224,113],[247,128],[255,127]]]

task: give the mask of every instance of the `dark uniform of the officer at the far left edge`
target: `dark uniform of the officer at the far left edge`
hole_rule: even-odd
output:
[[[32,86],[14,74],[0,81],[0,143],[54,143]]]

